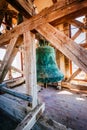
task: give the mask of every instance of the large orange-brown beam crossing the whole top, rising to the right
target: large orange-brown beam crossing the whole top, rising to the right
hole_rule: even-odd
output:
[[[78,11],[80,11],[81,13],[77,13]],[[59,20],[60,18],[63,18],[63,17],[66,17],[66,20],[67,20],[67,16],[69,19],[69,17],[71,18],[70,14],[75,16],[75,12],[78,14],[78,16],[82,13],[83,15],[87,14],[87,1],[84,0],[83,2],[79,2],[79,3],[73,2],[72,4],[67,5],[67,6],[64,6],[64,4],[60,6],[59,3],[57,2],[52,7],[49,7],[41,11],[36,16],[33,16],[29,20],[26,20],[22,24],[10,30],[8,33],[1,35],[0,45],[6,41],[9,41],[13,37],[16,37],[20,34],[25,33],[26,31],[35,29],[37,26],[41,24],[45,25],[45,23],[47,22],[52,22],[56,19]]]

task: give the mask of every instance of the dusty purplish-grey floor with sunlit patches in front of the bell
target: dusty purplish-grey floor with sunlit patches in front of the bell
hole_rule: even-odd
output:
[[[39,99],[46,103],[44,115],[73,128],[73,130],[87,130],[86,94],[74,93],[66,89],[59,91],[54,87],[48,87],[46,89],[43,88],[38,95]],[[9,121],[10,119],[6,116],[5,122],[10,124]],[[1,124],[5,122],[3,113],[0,111],[0,130],[11,130],[11,128],[2,128]],[[13,125],[15,125],[15,122],[13,122]]]

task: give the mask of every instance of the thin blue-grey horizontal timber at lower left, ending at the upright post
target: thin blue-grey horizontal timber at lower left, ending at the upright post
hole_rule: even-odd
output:
[[[32,96],[26,95],[24,93],[19,93],[15,90],[7,88],[6,86],[7,86],[6,84],[0,84],[0,92],[8,93],[12,96],[18,97],[18,98],[23,99],[25,101],[32,102]]]

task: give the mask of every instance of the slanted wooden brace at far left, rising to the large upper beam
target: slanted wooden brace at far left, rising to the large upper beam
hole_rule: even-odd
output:
[[[6,50],[6,54],[4,56],[3,62],[0,67],[0,82],[2,82],[11,67],[11,64],[18,52],[18,47],[22,44],[22,42],[19,42],[20,37],[11,39],[8,48]]]

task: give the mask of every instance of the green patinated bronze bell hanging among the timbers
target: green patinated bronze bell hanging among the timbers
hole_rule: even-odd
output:
[[[55,50],[40,40],[40,47],[36,49],[37,82],[53,83],[61,81],[64,75],[59,70]]]

